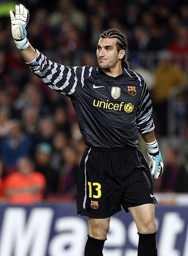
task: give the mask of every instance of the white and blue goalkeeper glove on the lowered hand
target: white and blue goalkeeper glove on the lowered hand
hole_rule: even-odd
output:
[[[146,148],[147,156],[150,160],[149,168],[152,168],[151,174],[154,176],[155,179],[158,179],[162,175],[164,164],[159,151],[157,140],[151,143],[146,143]]]

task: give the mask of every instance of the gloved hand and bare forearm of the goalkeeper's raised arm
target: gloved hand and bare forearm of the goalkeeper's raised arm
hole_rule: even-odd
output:
[[[29,11],[22,5],[16,5],[15,11],[10,10],[11,31],[16,47],[26,62],[32,62],[36,56],[36,50],[27,39],[26,25],[29,20]]]

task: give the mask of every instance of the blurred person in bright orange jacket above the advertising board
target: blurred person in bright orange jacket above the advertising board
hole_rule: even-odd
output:
[[[6,177],[4,184],[5,200],[13,204],[39,203],[43,199],[45,177],[34,171],[33,162],[21,157],[16,162],[17,170]]]

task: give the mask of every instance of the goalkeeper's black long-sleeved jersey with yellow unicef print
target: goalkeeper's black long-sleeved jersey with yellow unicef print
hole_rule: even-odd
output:
[[[152,104],[142,75],[123,69],[117,77],[99,67],[67,67],[37,51],[28,63],[47,86],[71,98],[88,146],[138,148],[138,132],[154,130]]]

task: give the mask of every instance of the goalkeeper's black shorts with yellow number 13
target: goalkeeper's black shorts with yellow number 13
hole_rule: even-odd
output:
[[[77,214],[107,218],[128,207],[157,204],[149,166],[138,149],[86,148],[79,166]]]

